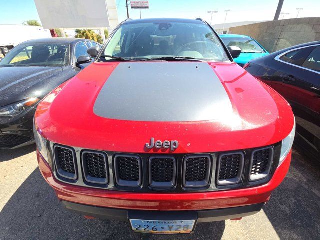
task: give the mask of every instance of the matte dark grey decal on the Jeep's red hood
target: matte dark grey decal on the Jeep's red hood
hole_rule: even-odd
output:
[[[206,62],[123,62],[94,104],[101,117],[135,121],[202,121],[232,112],[226,90]]]

